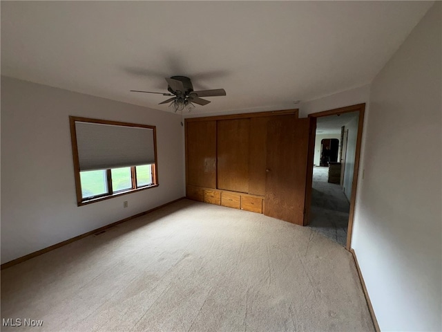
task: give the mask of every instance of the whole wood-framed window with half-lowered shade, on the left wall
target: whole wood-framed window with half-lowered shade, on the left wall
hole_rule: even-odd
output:
[[[156,129],[70,117],[77,204],[157,187]]]

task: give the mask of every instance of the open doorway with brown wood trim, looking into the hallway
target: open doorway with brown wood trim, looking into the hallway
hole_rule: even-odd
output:
[[[365,104],[309,114],[316,118],[308,225],[350,249]],[[332,149],[333,148],[333,149]]]

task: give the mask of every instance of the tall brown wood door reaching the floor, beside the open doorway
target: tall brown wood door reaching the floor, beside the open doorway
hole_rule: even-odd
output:
[[[269,121],[265,192],[267,216],[298,225],[306,224],[304,216],[309,209],[311,194],[309,167],[313,169],[312,154],[309,154],[311,123],[311,118]]]

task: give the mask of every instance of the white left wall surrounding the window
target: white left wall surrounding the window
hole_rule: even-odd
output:
[[[157,126],[159,187],[77,207],[68,116]],[[2,76],[1,263],[184,196],[180,120]]]

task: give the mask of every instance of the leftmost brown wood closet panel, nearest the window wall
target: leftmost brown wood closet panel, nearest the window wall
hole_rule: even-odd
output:
[[[216,121],[186,122],[186,181],[216,188]]]

